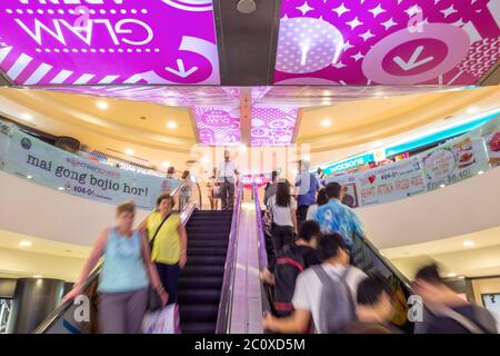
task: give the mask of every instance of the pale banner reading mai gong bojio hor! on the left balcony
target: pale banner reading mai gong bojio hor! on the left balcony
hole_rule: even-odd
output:
[[[134,200],[139,208],[151,209],[159,194],[179,185],[177,180],[98,164],[1,121],[0,126],[0,168],[49,188],[110,204]],[[6,135],[9,127],[10,135]]]

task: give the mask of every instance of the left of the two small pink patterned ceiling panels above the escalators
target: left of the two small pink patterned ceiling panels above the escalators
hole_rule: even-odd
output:
[[[239,108],[194,108],[200,144],[209,146],[231,146],[240,142]]]

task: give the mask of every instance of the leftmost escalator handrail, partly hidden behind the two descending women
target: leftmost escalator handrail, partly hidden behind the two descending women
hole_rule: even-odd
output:
[[[191,175],[188,176],[176,189],[173,189],[173,191],[171,192],[171,196],[174,197],[179,194],[180,189],[182,187],[184,187],[188,184],[188,179],[191,179]],[[197,186],[198,189],[200,189],[200,186],[198,184],[197,180]],[[183,225],[187,224],[187,221],[189,221],[189,218],[191,217],[191,214],[194,211],[194,209],[197,208],[197,206],[192,207],[192,205],[187,205],[184,207],[184,210],[188,210],[188,215],[186,217],[186,220],[182,221]],[[201,194],[200,194],[200,205],[198,208],[201,208]],[[154,210],[156,211],[156,210]],[[151,214],[153,214],[154,211],[152,211]],[[151,214],[148,215],[151,216]],[[148,219],[148,217],[146,217],[144,220]],[[90,273],[89,277],[87,278],[87,280],[83,283],[82,286],[82,290],[87,290],[92,283],[96,281],[96,279],[99,277],[99,274],[102,270],[102,263],[100,263],[98,266],[96,266],[96,268],[93,268],[93,270]],[[33,334],[44,334],[49,328],[51,328],[56,322],[73,305],[73,300],[67,300],[63,301],[62,304],[60,304],[34,330]]]

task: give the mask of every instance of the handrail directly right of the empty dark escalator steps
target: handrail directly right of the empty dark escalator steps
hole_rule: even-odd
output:
[[[224,264],[224,275],[219,301],[219,312],[217,314],[216,334],[229,334],[231,327],[231,312],[234,293],[234,275],[237,265],[237,244],[238,244],[238,226],[241,210],[241,196],[243,186],[238,185],[234,209],[232,211],[231,233],[229,235],[228,253]]]

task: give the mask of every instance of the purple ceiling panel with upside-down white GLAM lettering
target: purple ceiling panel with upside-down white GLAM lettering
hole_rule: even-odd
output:
[[[0,69],[17,85],[220,83],[211,0],[53,2],[0,2]]]

